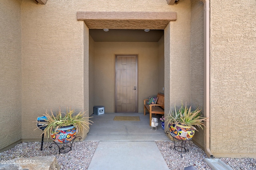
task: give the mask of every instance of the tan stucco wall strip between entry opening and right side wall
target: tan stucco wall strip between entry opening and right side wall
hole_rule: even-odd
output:
[[[175,104],[190,104],[190,0],[174,7],[177,20],[164,29],[165,116]]]

